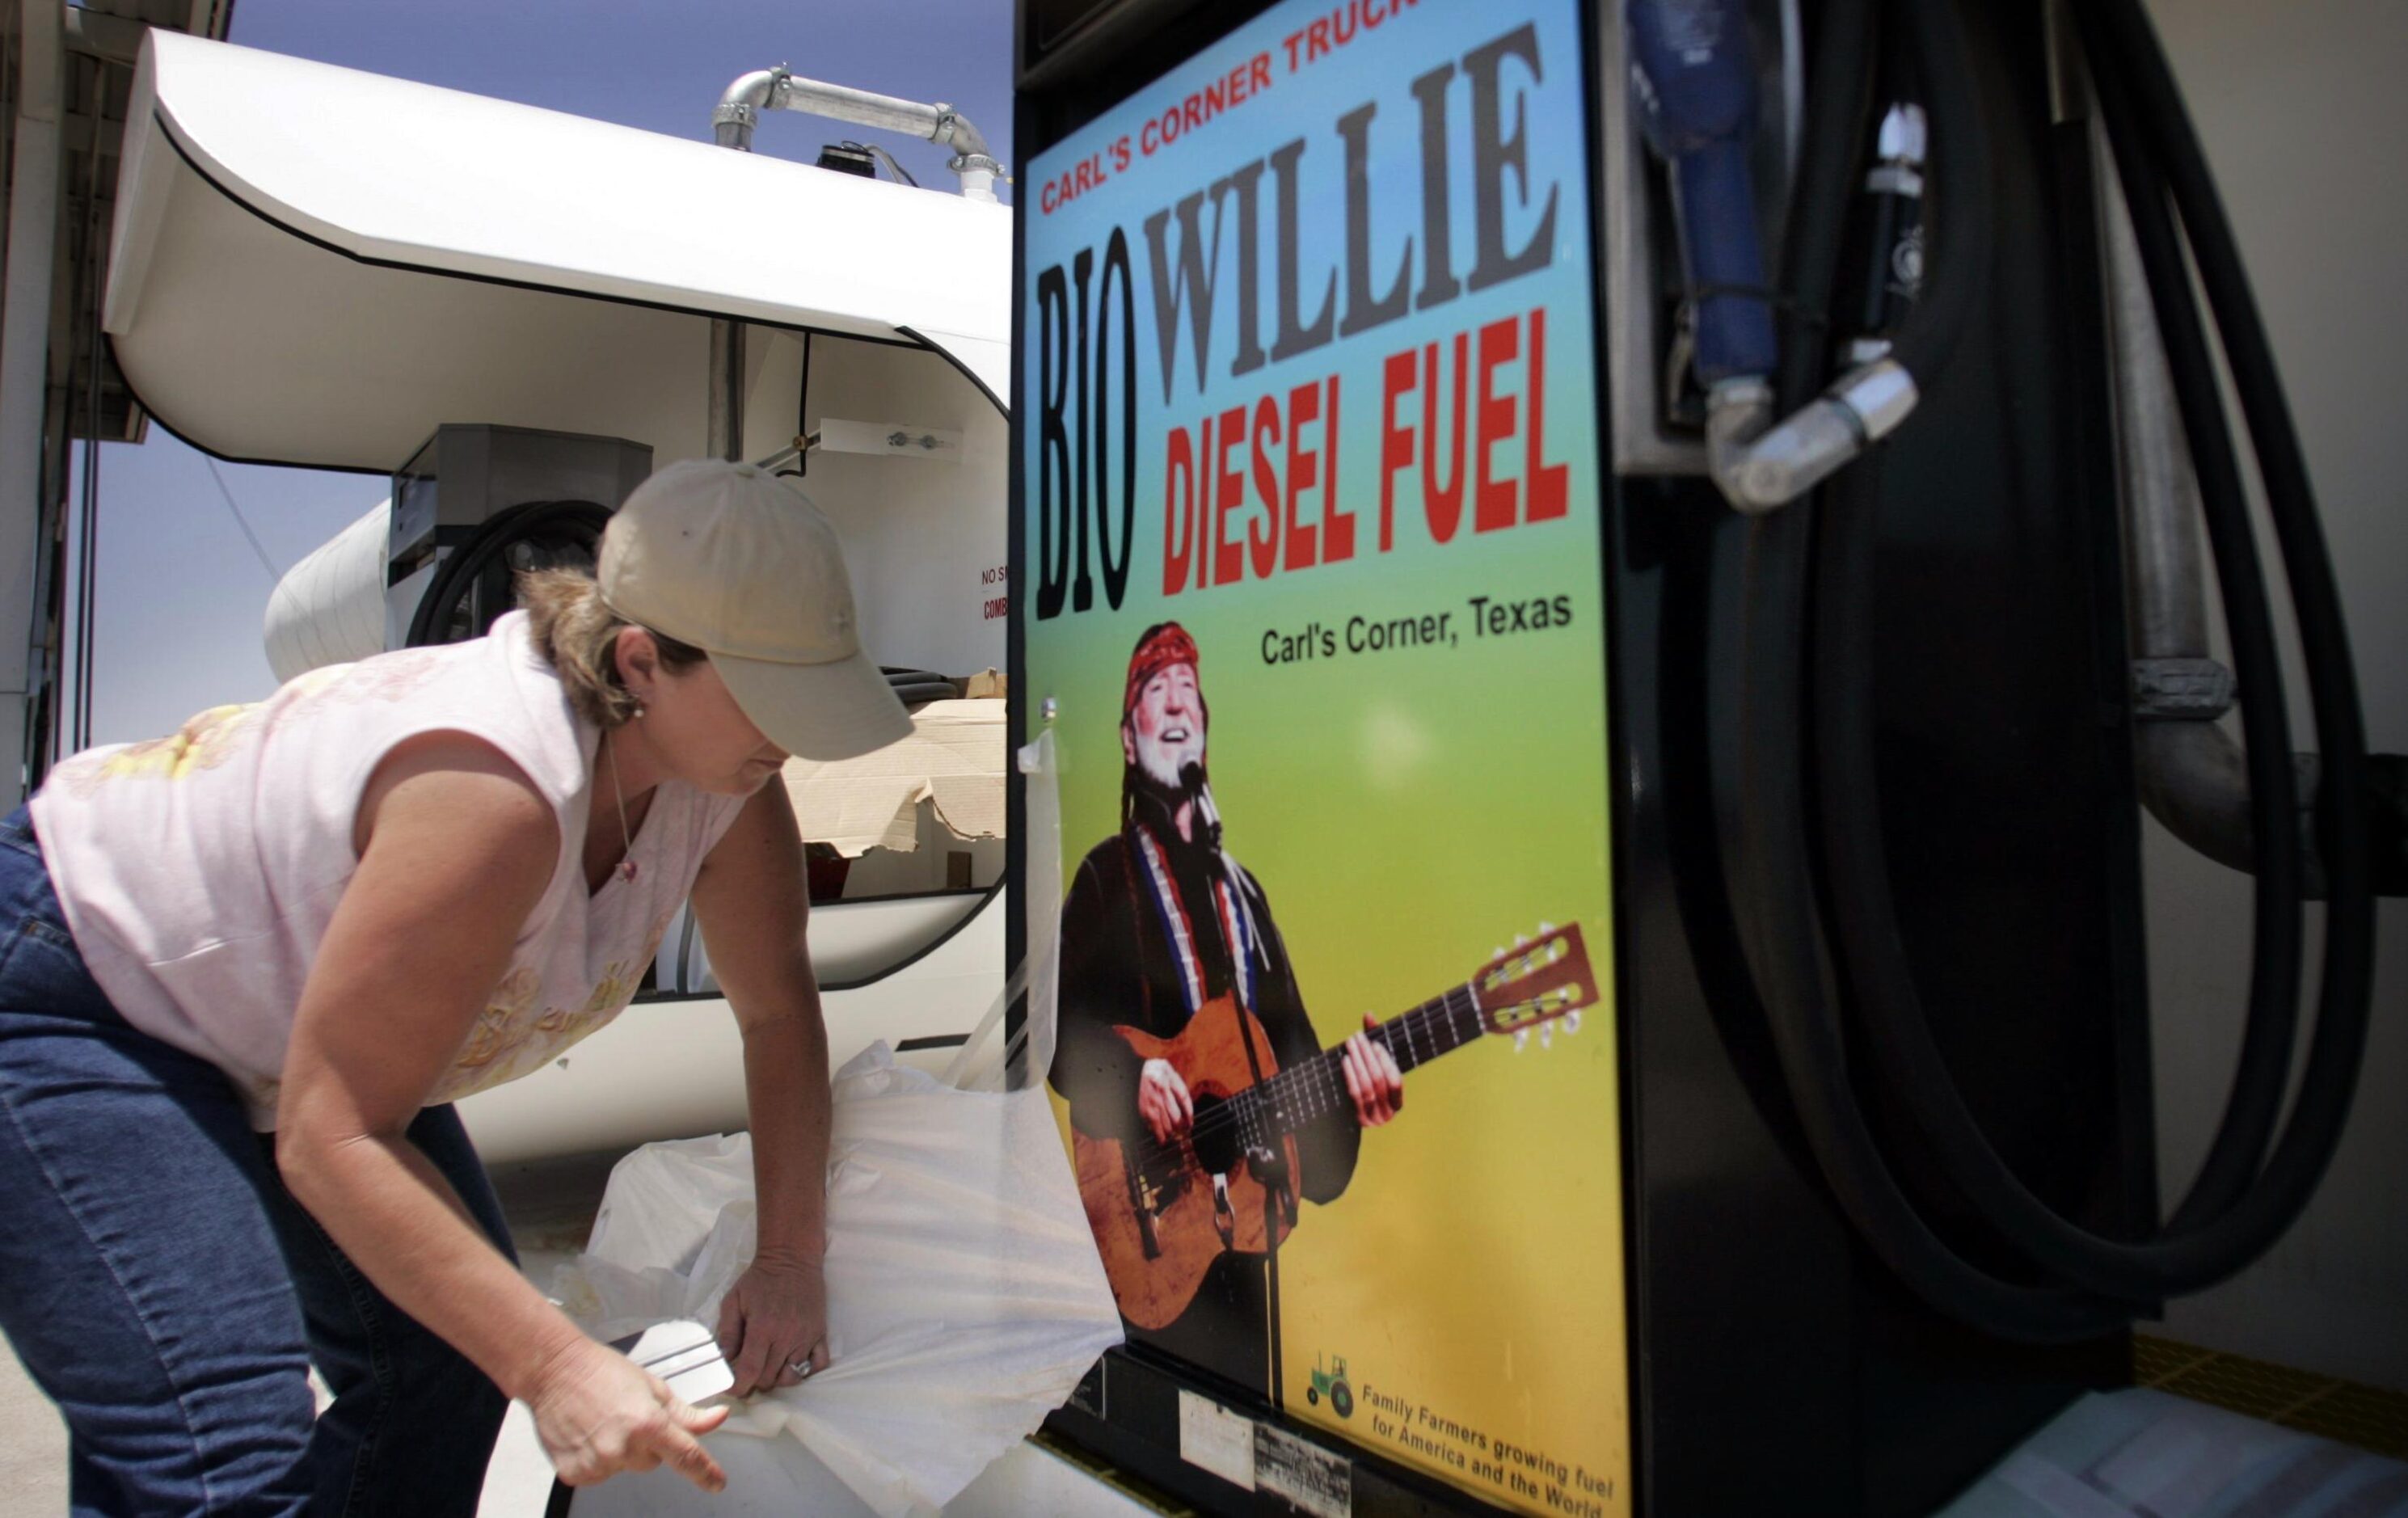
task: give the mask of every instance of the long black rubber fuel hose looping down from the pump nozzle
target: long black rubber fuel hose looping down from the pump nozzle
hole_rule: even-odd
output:
[[[1828,311],[1837,224],[1864,135],[1864,5],[1825,10],[1808,101],[1806,164],[1784,239],[1784,289]],[[1876,1255],[1917,1294],[1977,1328],[2023,1340],[2107,1332],[2259,1258],[2300,1214],[2341,1142],[2372,998],[2367,754],[2348,636],[2316,523],[2304,458],[2199,140],[2138,0],[2068,7],[2081,29],[2114,164],[2131,210],[2174,400],[2194,453],[2215,549],[2235,672],[2244,694],[2256,923],[2249,1024],[2232,1101],[2191,1190],[2150,1238],[2107,1238],[2054,1212],[2008,1169],[1965,1106],[1924,1019],[1883,855],[1873,783],[1871,465],[1758,518],[1746,569],[1746,689],[1741,696],[1741,824],[1734,916],[1772,1022],[1775,1048],[1808,1145],[1842,1210]],[[1893,349],[1934,373],[1963,328],[1987,258],[1989,171],[1977,82],[1946,0],[1898,0],[1926,82],[1936,210],[1929,284]],[[2201,313],[2184,260],[2199,270]],[[2266,484],[2268,513],[2297,614],[2321,754],[2316,858],[2326,877],[2316,1029],[2290,1120],[2276,1137],[2297,1024],[2304,860],[2273,610],[2208,347],[2223,345],[2232,390]],[[1820,364],[1811,320],[1784,333],[1782,412],[1801,405]],[[1818,530],[1820,528],[1820,530]],[[1811,639],[1806,605],[1813,605]],[[1813,720],[1806,665],[1813,646]],[[1811,732],[1811,752],[1808,752]],[[1813,759],[1813,764],[1808,764]],[[1808,819],[1806,776],[1820,776]],[[1813,831],[1811,831],[1813,829]],[[1820,877],[1816,872],[1820,846]],[[1820,884],[1820,894],[1818,894]],[[1825,949],[1864,1019],[1869,1070],[1852,1070]],[[1955,1193],[2020,1258],[2015,1279],[1970,1263],[1934,1231],[1893,1176],[1859,1087],[1905,1113]],[[2271,1147],[2271,1157],[2268,1157]]]

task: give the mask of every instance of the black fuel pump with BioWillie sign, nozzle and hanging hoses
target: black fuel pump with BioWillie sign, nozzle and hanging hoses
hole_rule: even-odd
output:
[[[1132,1340],[1057,1434],[1206,1511],[1922,1513],[2283,1234],[2396,759],[2136,0],[1028,0],[1019,67],[1011,689]],[[2143,802],[2259,892],[2170,1214]],[[1214,1231],[1247,1149],[1303,1205]]]

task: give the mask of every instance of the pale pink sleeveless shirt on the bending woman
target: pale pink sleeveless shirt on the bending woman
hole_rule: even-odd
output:
[[[352,822],[368,773],[397,742],[436,730],[508,754],[561,829],[510,969],[429,1094],[455,1101],[542,1067],[626,1007],[703,855],[744,807],[662,781],[631,851],[636,879],[612,872],[588,896],[600,732],[568,706],[523,612],[472,643],[313,670],[173,737],[89,749],[31,802],[92,978],[125,1022],[224,1070],[260,1130],[275,1128],[301,985],[359,867]],[[607,790],[600,805],[614,805]]]

